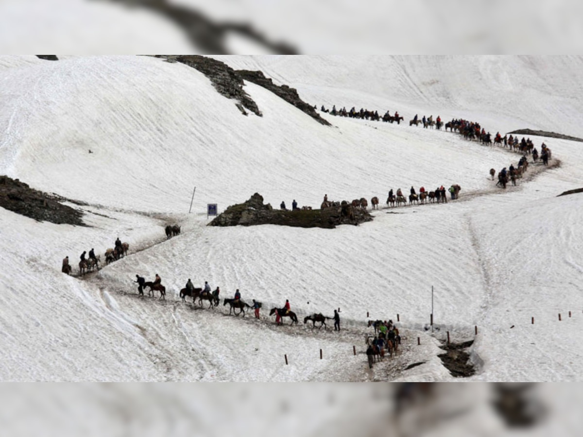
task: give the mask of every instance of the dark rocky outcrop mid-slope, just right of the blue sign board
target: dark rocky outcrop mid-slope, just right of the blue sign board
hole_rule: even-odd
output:
[[[350,205],[326,209],[283,211],[264,205],[259,193],[247,202],[229,206],[225,212],[209,223],[209,226],[252,226],[258,224],[278,224],[302,228],[335,228],[339,224],[364,223],[373,217],[366,210],[353,209]]]

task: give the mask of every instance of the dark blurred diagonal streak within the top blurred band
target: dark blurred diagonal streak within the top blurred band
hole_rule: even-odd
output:
[[[128,6],[151,10],[176,24],[185,34],[194,48],[206,54],[230,55],[226,39],[230,33],[249,38],[266,50],[278,55],[297,55],[296,48],[287,43],[269,41],[264,34],[250,23],[214,22],[198,10],[188,6],[169,3],[168,0],[99,0],[112,3],[124,3]]]

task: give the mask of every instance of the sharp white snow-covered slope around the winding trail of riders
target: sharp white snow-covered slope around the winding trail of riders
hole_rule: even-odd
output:
[[[397,109],[406,121],[415,113],[469,117],[493,133],[580,133],[580,58],[222,59],[262,69],[318,107]],[[91,225],[0,209],[0,331],[10,351],[0,378],[449,380],[438,341],[422,329],[434,286],[437,337],[449,330],[465,340],[479,326],[475,379],[580,379],[583,199],[554,198],[583,182],[579,143],[545,139],[561,166],[501,193],[487,172],[519,156],[449,132],[328,114],[326,127],[251,83],[245,89],[264,116],[244,117],[202,73],[157,58],[0,57],[0,65],[0,174],[86,203]],[[493,93],[501,84],[507,103]],[[206,203],[224,210],[254,192],[274,206],[296,199],[318,207],[325,193],[382,203],[390,188],[454,183],[462,186],[455,202],[381,209],[359,227],[205,226]],[[180,223],[182,234],[165,241],[166,223]],[[127,258],[88,280],[60,273],[65,255],[74,266],[92,247],[103,258],[118,236],[130,244]],[[167,301],[138,299],[136,273],[160,274]],[[178,297],[189,277],[220,286],[222,297],[240,288],[244,299],[264,302],[264,319],[227,317],[222,305],[194,311]],[[266,312],[285,299],[300,317],[341,308],[350,332],[314,333],[301,320],[273,326]],[[367,313],[399,314],[406,336],[402,355],[374,373],[352,355]],[[548,330],[559,357],[537,343]],[[401,372],[419,361],[426,364]]]

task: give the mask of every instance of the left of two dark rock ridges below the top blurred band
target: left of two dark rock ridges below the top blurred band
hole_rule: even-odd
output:
[[[197,69],[210,79],[215,89],[224,97],[234,98],[239,102],[237,107],[244,115],[247,108],[255,115],[262,116],[257,103],[243,90],[243,79],[229,65],[200,55],[158,55],[170,62],[181,62],[189,67]]]

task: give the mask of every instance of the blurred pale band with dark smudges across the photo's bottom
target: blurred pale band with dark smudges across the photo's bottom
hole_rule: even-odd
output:
[[[2,392],[3,434],[579,435],[581,392],[556,383],[61,384]],[[31,420],[34,417],[34,420]]]

